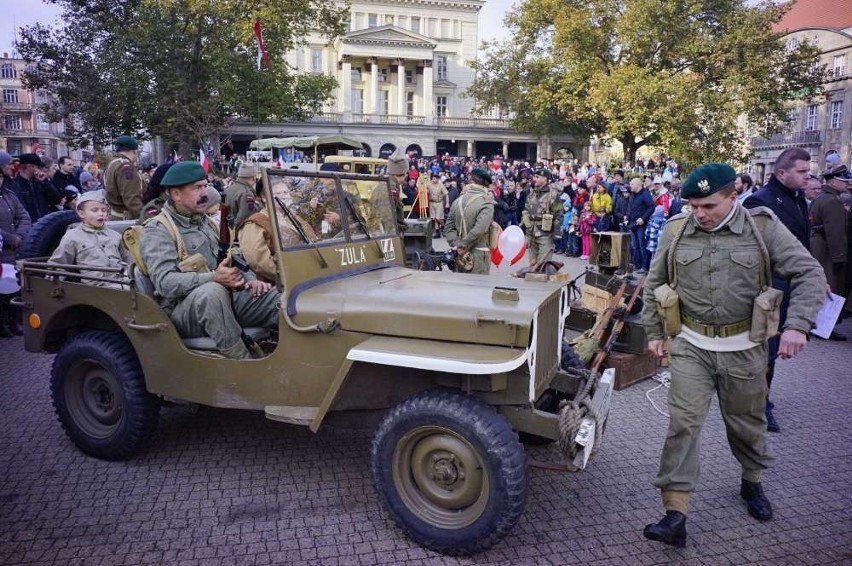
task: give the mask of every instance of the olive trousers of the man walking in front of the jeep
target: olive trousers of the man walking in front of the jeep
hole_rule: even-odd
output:
[[[670,353],[669,430],[654,485],[663,491],[695,491],[701,428],[714,392],[743,479],[760,481],[761,471],[773,461],[765,438],[766,345],[711,352],[678,336]]]

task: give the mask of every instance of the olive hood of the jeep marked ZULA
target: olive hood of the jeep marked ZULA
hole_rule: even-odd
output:
[[[525,348],[536,311],[558,311],[562,286],[389,267],[299,285],[287,303],[298,324],[333,316],[348,331]],[[495,298],[495,287],[517,289],[518,300]]]

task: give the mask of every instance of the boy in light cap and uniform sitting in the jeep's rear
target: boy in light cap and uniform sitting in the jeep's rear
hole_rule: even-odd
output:
[[[82,224],[71,228],[62,237],[59,247],[50,256],[48,263],[81,265],[92,267],[124,267],[131,261],[127,250],[121,246],[118,232],[104,227],[109,216],[109,206],[101,191],[84,193],[77,198],[77,216]],[[87,285],[120,288],[119,283],[89,280],[86,276],[121,279],[120,273],[80,270],[80,277]]]

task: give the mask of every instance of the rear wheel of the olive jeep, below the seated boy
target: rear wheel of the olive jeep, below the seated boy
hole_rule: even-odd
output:
[[[84,332],[67,342],[53,361],[50,390],[65,433],[95,458],[133,456],[157,427],[159,400],[121,334]]]

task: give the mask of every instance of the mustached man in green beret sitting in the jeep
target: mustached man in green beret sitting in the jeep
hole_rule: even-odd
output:
[[[228,358],[250,358],[242,327],[277,326],[278,291],[250,271],[229,267],[230,258],[217,264],[219,235],[204,214],[207,175],[201,165],[176,163],[161,185],[167,217],[149,221],[142,236],[142,258],[160,306],[181,336],[209,336]]]

